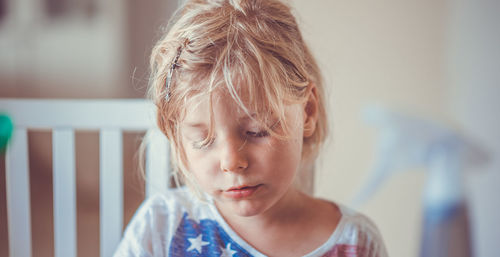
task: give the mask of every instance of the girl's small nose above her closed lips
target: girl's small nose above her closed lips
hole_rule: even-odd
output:
[[[227,139],[222,146],[220,168],[224,172],[240,172],[248,167],[245,140]]]

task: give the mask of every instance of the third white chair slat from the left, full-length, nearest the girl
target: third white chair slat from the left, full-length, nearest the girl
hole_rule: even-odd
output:
[[[123,228],[123,148],[119,129],[100,131],[100,251],[111,256]]]

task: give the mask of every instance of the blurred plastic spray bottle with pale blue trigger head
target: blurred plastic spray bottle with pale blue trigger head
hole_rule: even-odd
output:
[[[423,168],[421,257],[471,257],[463,171],[487,156],[465,137],[437,123],[380,107],[365,109],[379,128],[376,163],[352,205],[365,202],[392,175]]]

